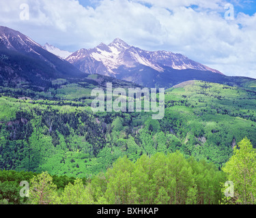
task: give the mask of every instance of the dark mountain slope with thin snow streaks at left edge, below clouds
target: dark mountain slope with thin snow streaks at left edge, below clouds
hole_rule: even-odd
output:
[[[48,52],[26,35],[0,27],[0,84],[15,87],[29,84],[45,87],[54,78],[83,77],[83,73]]]

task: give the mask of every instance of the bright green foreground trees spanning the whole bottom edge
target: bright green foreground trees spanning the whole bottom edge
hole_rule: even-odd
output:
[[[255,204],[255,176],[256,149],[244,138],[222,170],[180,151],[120,157],[89,179],[0,170],[0,204]]]

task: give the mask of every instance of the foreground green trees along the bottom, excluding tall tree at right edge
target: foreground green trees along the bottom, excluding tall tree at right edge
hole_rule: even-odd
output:
[[[180,152],[142,155],[136,162],[119,158],[89,181],[47,172],[0,172],[1,203],[18,198],[16,204],[217,204],[226,180],[211,163]],[[16,181],[22,179],[29,181],[28,201],[18,196]]]

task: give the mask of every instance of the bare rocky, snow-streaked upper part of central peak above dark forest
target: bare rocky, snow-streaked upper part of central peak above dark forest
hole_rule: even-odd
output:
[[[171,67],[172,69],[197,69],[221,74],[218,70],[192,61],[184,55],[167,51],[142,50],[118,38],[109,45],[101,43],[96,48],[78,50],[66,60],[82,72],[113,77],[118,77],[120,67],[129,69],[138,65],[150,67],[157,72],[164,72],[166,67]]]

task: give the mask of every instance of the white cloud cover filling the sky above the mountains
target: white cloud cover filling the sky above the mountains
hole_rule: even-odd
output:
[[[230,1],[229,1],[230,2]],[[20,20],[20,4],[29,20]],[[232,3],[232,2],[231,2]],[[241,1],[234,1],[234,7]],[[71,51],[119,37],[147,50],[180,52],[230,76],[256,78],[256,14],[224,18],[224,0],[102,0],[83,7],[75,0],[0,2],[0,25],[36,42]]]

